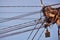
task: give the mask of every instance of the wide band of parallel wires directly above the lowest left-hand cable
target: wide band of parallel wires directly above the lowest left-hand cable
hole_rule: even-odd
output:
[[[36,20],[36,21],[37,21],[37,24],[41,23],[41,20]],[[34,26],[34,25],[35,25],[35,21],[30,21],[30,22],[26,22],[23,24],[10,26],[7,28],[0,29],[0,34],[5,34],[5,33],[8,33],[8,32],[14,31],[14,30],[27,28],[29,26]]]

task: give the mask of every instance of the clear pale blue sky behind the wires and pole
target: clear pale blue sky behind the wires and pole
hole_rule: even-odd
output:
[[[48,4],[60,3],[60,0],[43,0],[43,2],[45,5],[48,5]],[[40,1],[39,0],[0,0],[0,6],[1,5],[2,6],[3,5],[39,6]],[[39,8],[39,7],[38,8],[36,8],[36,7],[31,7],[31,8],[0,8],[0,12],[35,12],[38,10],[41,10],[41,8]],[[9,17],[17,16],[17,15],[22,15],[22,14],[26,14],[26,13],[0,13],[0,18],[9,18]],[[39,18],[39,14],[28,16],[26,18]],[[32,20],[34,20],[34,19],[32,19]],[[17,19],[17,20],[13,20],[13,21],[9,21],[9,22],[0,23],[0,27],[1,28],[9,27],[9,26],[25,23],[28,21],[31,21],[31,20],[29,20],[29,19],[27,19],[27,20]],[[38,36],[42,32],[42,30],[43,30],[43,28],[40,29],[39,33],[37,34],[37,36],[35,37],[34,40],[38,39]],[[51,32],[51,37],[45,38],[44,33],[43,33],[40,40],[58,40],[58,33],[57,33],[58,31],[57,30],[58,30],[57,25],[54,25],[53,27],[49,28],[49,31]],[[34,31],[34,33],[35,32],[36,31]],[[5,38],[0,38],[0,40],[27,40],[29,33],[30,32],[26,32],[23,34],[18,34],[18,35],[14,35],[14,36],[10,36],[10,37],[5,37]],[[32,38],[32,36],[31,36],[31,38]]]

